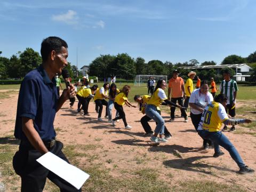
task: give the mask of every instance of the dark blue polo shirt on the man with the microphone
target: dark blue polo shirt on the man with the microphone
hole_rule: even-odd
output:
[[[58,99],[55,78],[51,81],[42,65],[30,71],[20,86],[15,138],[27,140],[21,118],[28,117],[34,120],[34,127],[42,140],[53,139],[56,136],[53,122]]]

